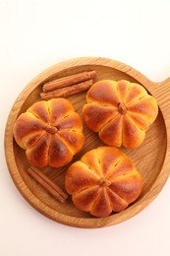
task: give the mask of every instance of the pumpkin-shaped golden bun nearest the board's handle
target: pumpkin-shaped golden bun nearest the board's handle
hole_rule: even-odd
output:
[[[139,147],[155,120],[158,105],[137,83],[121,80],[96,82],[87,92],[85,123],[106,145]]]

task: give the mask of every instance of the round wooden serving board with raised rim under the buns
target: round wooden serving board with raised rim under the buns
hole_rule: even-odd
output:
[[[159,104],[159,113],[155,122],[146,132],[142,146],[136,150],[123,150],[142,173],[143,189],[138,201],[122,213],[112,214],[106,218],[94,218],[88,213],[76,209],[71,198],[66,203],[58,203],[27,172],[28,160],[13,138],[13,126],[17,117],[40,99],[42,85],[46,81],[73,75],[83,71],[96,71],[95,81],[102,79],[129,80],[141,84]],[[76,111],[82,115],[85,93],[67,97],[74,104]],[[68,60],[54,65],[35,77],[15,101],[6,125],[5,153],[11,176],[28,203],[44,216],[61,224],[77,227],[101,227],[126,221],[142,211],[160,192],[170,171],[170,79],[162,83],[153,83],[137,70],[114,60],[85,57]],[[85,124],[84,124],[85,126]],[[85,147],[74,158],[79,160],[85,152],[102,145],[97,134],[85,132]],[[69,164],[68,164],[69,165]],[[43,172],[64,189],[64,177],[67,166],[59,169],[46,167]]]

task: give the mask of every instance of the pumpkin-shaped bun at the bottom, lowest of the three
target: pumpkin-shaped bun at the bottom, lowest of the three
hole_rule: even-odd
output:
[[[65,188],[73,203],[95,217],[125,210],[142,192],[142,176],[120,150],[99,147],[66,171]]]

